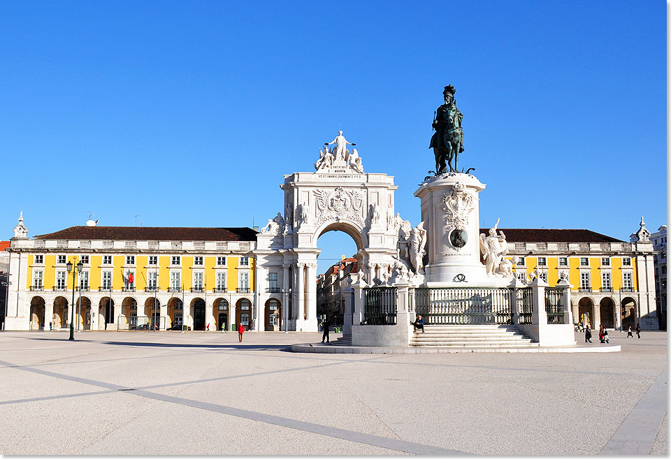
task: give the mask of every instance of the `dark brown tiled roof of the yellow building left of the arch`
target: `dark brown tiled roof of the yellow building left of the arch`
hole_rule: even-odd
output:
[[[252,228],[181,228],[176,226],[71,226],[36,239],[78,240],[226,240],[255,241]]]

